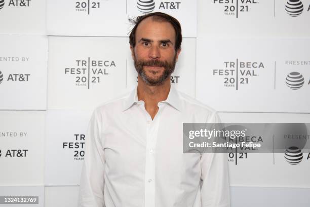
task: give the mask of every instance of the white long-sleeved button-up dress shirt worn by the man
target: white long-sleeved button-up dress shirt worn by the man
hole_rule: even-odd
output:
[[[80,207],[230,206],[226,154],[183,153],[183,122],[219,122],[214,110],[176,91],[152,120],[137,88],[91,118]]]

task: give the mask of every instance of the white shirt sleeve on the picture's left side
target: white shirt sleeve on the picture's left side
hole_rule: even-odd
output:
[[[104,206],[104,166],[105,157],[101,139],[101,122],[98,119],[97,111],[94,111],[85,141],[85,157],[80,182],[79,207]]]

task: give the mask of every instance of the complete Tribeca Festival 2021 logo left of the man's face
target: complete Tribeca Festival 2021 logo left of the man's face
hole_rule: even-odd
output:
[[[75,86],[86,86],[90,89],[91,84],[102,83],[104,76],[110,75],[108,72],[115,68],[113,60],[75,60],[75,66],[64,68],[65,75],[75,77]]]

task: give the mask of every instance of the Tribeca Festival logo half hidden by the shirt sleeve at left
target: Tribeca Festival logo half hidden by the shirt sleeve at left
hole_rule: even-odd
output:
[[[62,143],[63,149],[74,149],[74,160],[84,160],[85,134],[74,134],[74,142]]]

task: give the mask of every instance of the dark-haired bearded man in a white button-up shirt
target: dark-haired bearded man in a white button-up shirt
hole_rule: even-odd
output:
[[[181,42],[175,18],[137,18],[130,49],[138,86],[94,111],[79,206],[230,206],[226,155],[182,151],[183,122],[219,119],[170,85]]]

